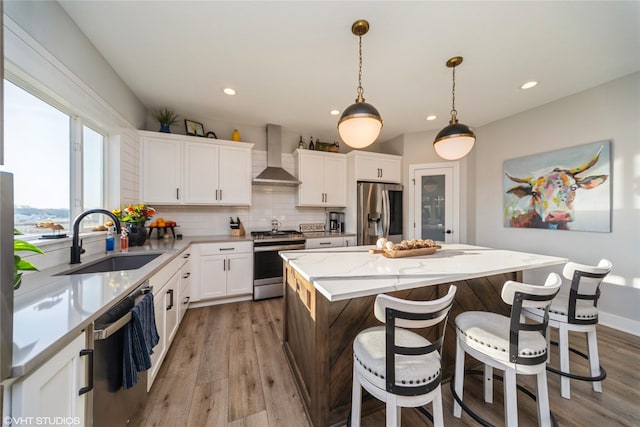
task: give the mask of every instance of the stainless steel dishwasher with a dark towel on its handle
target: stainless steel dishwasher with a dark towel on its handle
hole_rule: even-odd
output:
[[[138,382],[122,387],[124,326],[131,309],[152,288],[145,282],[94,322],[93,426],[119,427],[140,424],[147,404],[147,372]]]

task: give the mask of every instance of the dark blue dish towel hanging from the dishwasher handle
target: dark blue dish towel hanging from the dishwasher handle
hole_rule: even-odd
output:
[[[151,367],[150,356],[159,340],[153,294],[148,293],[131,309],[131,321],[124,327],[123,388],[133,387],[138,382],[138,372]]]

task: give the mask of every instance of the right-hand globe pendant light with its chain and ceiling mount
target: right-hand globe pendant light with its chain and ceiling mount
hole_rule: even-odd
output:
[[[458,160],[469,154],[476,136],[469,126],[458,123],[456,111],[456,67],[462,64],[461,56],[454,56],[447,61],[447,67],[453,68],[453,89],[451,102],[451,120],[449,125],[438,132],[433,148],[440,157],[446,160]]]

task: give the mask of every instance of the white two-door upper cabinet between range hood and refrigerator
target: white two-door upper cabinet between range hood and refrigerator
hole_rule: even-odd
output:
[[[344,154],[310,150],[294,153],[298,168],[298,206],[342,207],[347,204]]]

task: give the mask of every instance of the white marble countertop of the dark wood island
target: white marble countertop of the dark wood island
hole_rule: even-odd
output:
[[[283,251],[280,256],[329,301],[564,264],[566,258],[443,244],[433,255],[386,258],[373,246]]]

